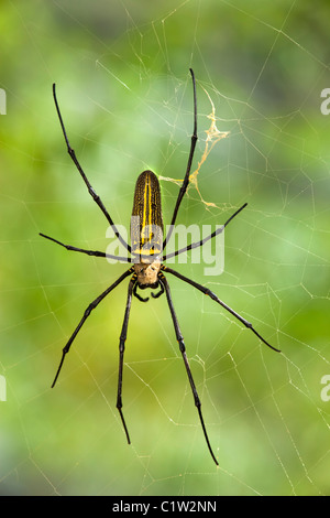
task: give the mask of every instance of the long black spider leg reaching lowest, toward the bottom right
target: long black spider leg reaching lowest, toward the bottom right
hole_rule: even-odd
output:
[[[158,277],[160,277],[160,279],[162,279],[162,284],[165,288],[167,303],[168,303],[168,307],[169,307],[169,311],[170,311],[170,315],[172,315],[172,320],[173,320],[173,324],[174,324],[174,328],[175,328],[176,339],[178,341],[179,349],[180,349],[180,353],[182,353],[182,356],[183,356],[183,359],[184,359],[184,363],[185,363],[186,371],[187,371],[187,375],[188,375],[190,388],[191,388],[193,396],[194,396],[195,406],[198,410],[200,424],[201,424],[201,428],[202,428],[202,431],[204,431],[204,436],[205,436],[205,440],[207,442],[207,445],[208,445],[209,452],[211,454],[211,457],[213,458],[215,463],[218,466],[219,463],[218,463],[218,461],[217,461],[217,458],[216,458],[216,456],[212,452],[211,444],[210,444],[210,441],[209,441],[209,438],[208,438],[208,434],[207,434],[206,425],[205,425],[205,422],[204,422],[204,419],[202,419],[201,402],[200,402],[200,399],[198,397],[197,389],[196,389],[196,386],[195,386],[195,381],[194,381],[191,370],[190,370],[190,367],[189,367],[189,361],[188,361],[188,358],[187,358],[187,355],[186,355],[186,347],[185,347],[185,343],[184,343],[184,337],[182,335],[180,327],[179,327],[179,324],[178,324],[178,321],[177,321],[177,317],[176,317],[176,313],[175,313],[175,310],[174,310],[174,306],[173,306],[173,302],[172,302],[169,285],[168,285],[168,282],[167,282],[165,276],[162,272],[160,273]]]

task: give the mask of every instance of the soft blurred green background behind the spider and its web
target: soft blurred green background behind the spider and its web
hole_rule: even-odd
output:
[[[329,495],[329,4],[282,0],[1,2],[0,492],[28,495]],[[128,225],[138,174],[184,175],[197,77],[199,142],[212,99],[230,131],[202,165],[178,223],[223,223],[226,269],[179,265],[250,319],[277,355],[193,288],[169,279],[202,399],[207,451],[165,296],[133,300],[123,403],[116,410],[127,283],[90,316],[55,389],[85,307],[127,268],[67,252],[106,249]],[[205,89],[204,89],[205,88]],[[169,223],[178,186],[162,181]]]

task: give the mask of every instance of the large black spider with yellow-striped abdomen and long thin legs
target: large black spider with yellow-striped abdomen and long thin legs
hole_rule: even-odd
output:
[[[212,239],[216,237],[218,234],[222,233],[223,229],[228,226],[228,224],[248,205],[246,203],[242,205],[234,214],[231,215],[231,217],[222,225],[220,228],[218,228],[216,231],[213,231],[211,235],[207,236],[206,238],[201,239],[200,241],[197,242],[191,242],[190,245],[186,246],[185,248],[182,248],[179,250],[176,250],[174,252],[163,255],[163,251],[165,250],[165,247],[170,238],[170,235],[173,233],[173,228],[177,218],[178,209],[182,204],[183,197],[187,191],[188,184],[189,184],[189,175],[190,175],[190,169],[191,169],[191,163],[194,159],[194,153],[195,153],[195,148],[196,148],[196,142],[197,142],[197,96],[196,96],[196,79],[195,79],[195,74],[193,69],[189,69],[190,75],[191,75],[191,80],[193,80],[193,95],[194,95],[194,130],[193,130],[193,136],[191,136],[191,141],[190,141],[190,151],[188,155],[188,162],[187,162],[187,168],[186,168],[186,174],[185,179],[182,183],[180,190],[178,192],[178,196],[176,199],[176,204],[174,207],[172,220],[170,220],[170,226],[167,235],[163,239],[163,216],[162,216],[162,205],[161,205],[161,188],[160,188],[160,183],[156,177],[156,175],[152,171],[144,171],[143,173],[140,174],[136,181],[135,185],[135,193],[134,193],[134,203],[133,203],[133,212],[132,212],[132,222],[134,224],[131,224],[131,245],[129,245],[120,235],[118,231],[110,214],[108,213],[107,208],[105,207],[100,196],[96,193],[91,184],[89,183],[85,172],[82,171],[82,168],[80,163],[78,162],[78,159],[76,157],[76,153],[74,149],[70,147],[68,137],[66,133],[66,129],[63,122],[63,118],[61,115],[59,106],[57,102],[57,97],[56,97],[56,90],[55,90],[55,84],[53,84],[53,97],[55,101],[55,107],[57,111],[57,116],[59,119],[59,123],[62,127],[62,131],[64,134],[64,139],[66,142],[67,147],[67,152],[70,157],[70,159],[74,161],[80,176],[82,177],[89,194],[91,195],[92,199],[97,203],[97,205],[100,207],[102,211],[103,215],[106,216],[110,227],[112,228],[116,237],[119,239],[119,241],[124,246],[124,248],[128,250],[129,255],[131,257],[116,257],[111,256],[109,253],[98,251],[98,250],[86,250],[82,248],[77,248],[73,247],[70,245],[65,245],[57,239],[54,239],[50,236],[46,236],[45,234],[40,234],[42,237],[50,239],[51,241],[56,242],[57,245],[61,245],[62,247],[66,248],[67,250],[73,250],[73,251],[78,251],[81,253],[87,253],[88,256],[96,256],[96,257],[105,257],[105,258],[111,258],[111,259],[117,259],[121,260],[123,262],[129,262],[133,263],[133,266],[127,270],[124,273],[122,273],[107,290],[105,290],[99,296],[97,296],[85,310],[84,315],[78,323],[77,327],[73,332],[72,336],[69,337],[68,342],[66,343],[65,347],[63,348],[62,352],[62,358],[59,361],[59,366],[57,368],[52,388],[55,386],[58,375],[61,373],[61,369],[64,364],[64,359],[67,355],[67,353],[70,349],[70,346],[76,338],[78,332],[85,324],[86,320],[90,315],[91,311],[95,310],[99,303],[107,296],[109,293],[114,290],[124,279],[130,277],[130,282],[129,282],[129,289],[128,289],[128,299],[127,299],[127,306],[125,306],[125,312],[124,312],[124,319],[123,319],[123,324],[122,324],[122,331],[119,339],[119,373],[118,373],[118,391],[117,391],[117,409],[119,411],[121,422],[124,429],[124,433],[127,436],[127,441],[130,444],[130,435],[129,435],[129,430],[124,420],[124,416],[122,412],[122,375],[123,375],[123,361],[124,361],[124,348],[125,348],[125,341],[127,341],[127,334],[128,334],[128,325],[129,325],[129,316],[130,316],[130,310],[131,310],[131,302],[132,302],[132,296],[134,295],[136,299],[139,299],[141,302],[146,302],[148,298],[142,298],[140,293],[138,293],[139,290],[145,290],[145,289],[152,289],[152,290],[157,290],[156,293],[152,291],[152,296],[154,299],[161,296],[163,293],[166,294],[172,321],[174,324],[174,330],[175,330],[175,335],[176,339],[178,342],[179,350],[184,360],[184,365],[186,368],[186,373],[188,376],[188,380],[190,384],[193,397],[194,397],[194,402],[198,411],[199,416],[199,421],[202,428],[204,436],[208,446],[208,450],[211,454],[212,460],[217,465],[219,465],[213,451],[211,449],[211,444],[208,438],[208,433],[206,430],[204,417],[201,413],[201,402],[196,389],[196,385],[193,378],[193,374],[190,370],[189,361],[187,358],[186,354],[186,347],[185,347],[185,342],[184,337],[178,324],[178,320],[175,313],[175,309],[173,305],[172,301],[172,295],[170,295],[170,290],[169,290],[169,284],[167,281],[167,278],[165,273],[169,273],[170,276],[176,277],[177,279],[180,279],[182,281],[193,285],[197,290],[199,290],[201,293],[205,293],[206,295],[210,296],[215,302],[220,304],[226,311],[228,311],[234,319],[237,319],[239,322],[241,322],[245,327],[251,330],[265,345],[271,347],[273,350],[276,350],[279,353],[278,349],[273,347],[268,342],[266,342],[253,327],[253,325],[248,322],[243,316],[239,315],[234,310],[232,310],[229,305],[227,305],[224,302],[222,302],[212,291],[210,291],[208,288],[199,284],[198,282],[188,279],[187,277],[183,276],[182,273],[173,270],[172,268],[168,268],[163,263],[163,261],[166,261],[166,259],[169,259],[170,257],[178,256],[179,253],[183,253],[187,250],[191,250],[197,247],[201,247],[206,241],[209,239]],[[162,257],[161,257],[162,256]],[[162,259],[162,260],[161,260]]]

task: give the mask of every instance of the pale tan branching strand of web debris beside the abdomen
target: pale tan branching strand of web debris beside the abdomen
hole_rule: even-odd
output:
[[[202,87],[204,91],[206,93],[206,95],[208,96],[209,98],[209,101],[211,104],[211,107],[212,107],[212,110],[211,112],[207,116],[208,119],[211,120],[211,126],[209,127],[209,129],[207,129],[205,132],[207,134],[207,138],[206,138],[206,141],[205,141],[205,149],[204,149],[204,153],[201,155],[201,159],[200,161],[198,162],[198,165],[197,165],[197,169],[189,175],[189,186],[195,186],[196,191],[198,192],[199,194],[199,197],[200,197],[200,201],[207,206],[207,207],[215,207],[215,208],[220,208],[218,207],[218,205],[216,205],[215,203],[212,202],[206,202],[199,191],[199,187],[198,187],[198,174],[199,174],[199,171],[200,171],[200,168],[201,165],[204,164],[204,162],[206,162],[208,155],[210,154],[210,152],[212,151],[212,149],[215,148],[215,145],[221,140],[221,139],[226,139],[230,131],[220,131],[218,128],[217,128],[217,123],[216,123],[216,108],[215,108],[215,105],[213,105],[213,101],[210,97],[210,95],[208,94],[208,91]],[[173,182],[173,183],[176,183],[177,185],[180,185],[183,183],[183,179],[182,180],[175,180],[175,179],[172,179],[172,177],[168,177],[168,176],[160,176],[160,180],[164,180],[165,182]]]

